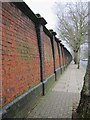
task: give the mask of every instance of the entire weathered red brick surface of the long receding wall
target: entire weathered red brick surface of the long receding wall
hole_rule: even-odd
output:
[[[2,98],[3,106],[41,82],[40,53],[36,23],[27,17],[13,3],[2,3]],[[44,79],[68,62],[61,46],[43,31],[42,53]],[[0,35],[1,36],[1,35]],[[2,45],[2,48],[1,48]],[[59,50],[61,51],[59,53]],[[65,51],[63,51],[65,52]],[[1,62],[0,62],[1,63]]]

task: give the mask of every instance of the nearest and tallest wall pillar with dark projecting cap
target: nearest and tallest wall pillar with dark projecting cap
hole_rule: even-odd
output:
[[[40,14],[36,14],[37,23],[36,23],[36,33],[38,39],[38,47],[40,54],[40,73],[41,73],[41,82],[44,81],[44,48],[43,48],[43,27],[47,24],[46,20],[40,16]],[[44,95],[44,86],[42,84],[42,95]]]

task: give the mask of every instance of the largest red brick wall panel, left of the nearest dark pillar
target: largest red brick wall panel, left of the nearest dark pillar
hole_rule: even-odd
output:
[[[2,8],[3,105],[40,82],[40,58],[34,23],[15,6]]]

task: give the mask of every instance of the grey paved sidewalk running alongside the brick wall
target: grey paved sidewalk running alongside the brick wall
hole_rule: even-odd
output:
[[[27,118],[72,118],[79,104],[86,70],[73,62],[67,67],[50,91],[42,96]]]

